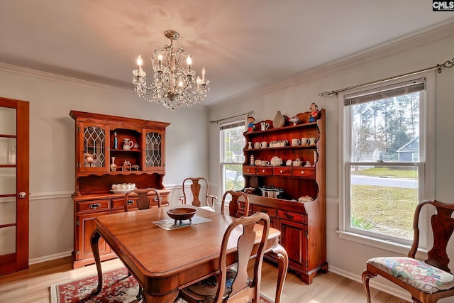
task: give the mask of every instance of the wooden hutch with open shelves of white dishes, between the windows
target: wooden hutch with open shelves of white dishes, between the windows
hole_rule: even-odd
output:
[[[311,284],[317,272],[328,272],[326,263],[326,175],[325,175],[325,119],[324,109],[319,117],[309,122],[310,112],[297,114],[298,122],[286,123],[281,128],[270,127],[244,133],[243,176],[252,213],[262,211],[270,216],[272,227],[278,228],[281,244],[289,255],[289,268],[301,280]],[[313,138],[315,143],[292,146],[292,139]],[[258,144],[263,148],[257,148]],[[270,147],[270,143],[271,147]],[[255,147],[254,147],[255,145]],[[251,155],[256,165],[251,165]],[[278,159],[278,161],[277,161]],[[279,163],[282,159],[282,164]],[[299,159],[301,166],[287,165]],[[289,161],[291,160],[291,161]],[[270,164],[261,165],[261,161]],[[309,161],[310,163],[307,163]],[[293,164],[293,163],[292,163]],[[297,163],[298,165],[298,163]],[[281,192],[277,198],[263,197],[260,188],[269,187]],[[300,199],[300,201],[298,201]],[[272,255],[267,258],[273,259]]]

